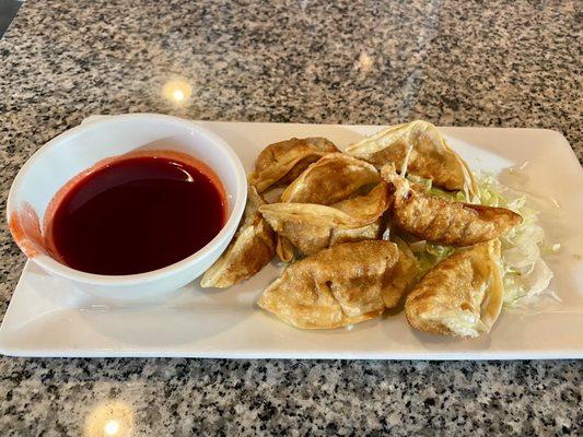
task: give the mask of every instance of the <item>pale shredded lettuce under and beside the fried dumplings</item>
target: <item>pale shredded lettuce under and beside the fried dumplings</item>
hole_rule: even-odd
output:
[[[433,187],[431,180],[407,175],[411,182],[422,186],[433,196],[450,201],[467,201],[464,192],[448,192]],[[560,245],[544,247],[545,232],[538,225],[538,212],[526,206],[525,196],[512,196],[511,190],[493,176],[475,175],[478,192],[474,203],[488,206],[508,208],[520,214],[523,222],[500,237],[502,246],[501,271],[503,273],[504,306],[518,307],[533,297],[547,291],[552,271],[541,255],[556,253]],[[457,249],[432,245],[427,241],[408,240],[417,257],[419,275],[427,273],[433,265],[450,257]],[[548,294],[552,294],[548,292]]]

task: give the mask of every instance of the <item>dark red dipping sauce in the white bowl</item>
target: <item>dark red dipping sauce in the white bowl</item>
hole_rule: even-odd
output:
[[[55,256],[83,272],[135,274],[214,238],[226,216],[222,185],[202,163],[167,155],[124,157],[73,179],[49,217]]]

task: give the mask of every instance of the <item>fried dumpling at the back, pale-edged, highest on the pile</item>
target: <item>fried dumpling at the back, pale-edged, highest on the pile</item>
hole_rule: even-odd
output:
[[[395,164],[400,170],[407,163],[407,172],[431,179],[436,187],[476,192],[476,182],[467,164],[428,121],[417,120],[385,129],[351,144],[346,153],[372,163],[378,169]]]

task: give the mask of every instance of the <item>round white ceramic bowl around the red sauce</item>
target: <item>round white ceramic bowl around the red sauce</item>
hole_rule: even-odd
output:
[[[129,114],[95,117],[42,146],[12,184],[7,205],[9,222],[26,204],[34,211],[33,215],[42,220],[56,192],[72,177],[106,157],[136,150],[186,153],[208,164],[219,176],[226,192],[228,220],[202,249],[151,272],[100,275],[71,269],[45,252],[32,253],[34,251],[26,250],[26,238],[22,235],[16,238],[13,232],[21,249],[46,272],[72,281],[79,288],[106,299],[150,298],[177,290],[201,275],[225,249],[245,209],[245,170],[235,152],[221,138],[180,118]]]

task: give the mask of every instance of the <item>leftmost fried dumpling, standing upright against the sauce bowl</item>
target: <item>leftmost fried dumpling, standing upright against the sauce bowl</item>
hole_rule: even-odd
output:
[[[273,258],[276,235],[258,212],[264,203],[257,190],[249,187],[240,227],[226,250],[202,275],[203,288],[226,288],[249,279]]]

